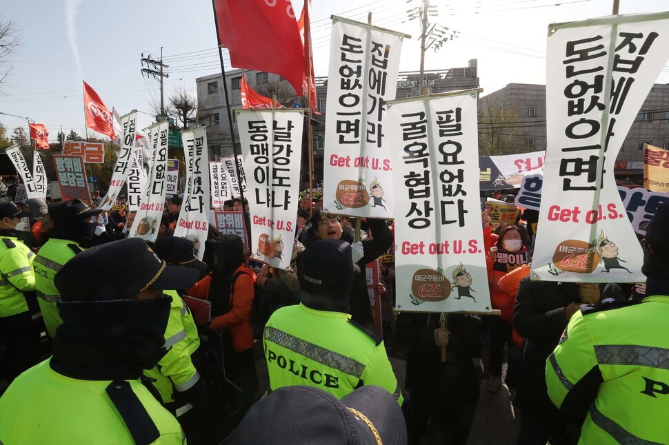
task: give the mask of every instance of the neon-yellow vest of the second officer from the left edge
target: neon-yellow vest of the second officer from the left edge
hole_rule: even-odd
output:
[[[79,243],[72,240],[51,238],[39,249],[32,265],[35,271],[37,304],[44,318],[46,331],[51,338],[55,337],[56,328],[63,322],[56,306],[61,299],[61,293],[56,289],[53,278],[61,267],[76,255],[74,249],[69,245],[74,245],[75,249],[84,250]]]

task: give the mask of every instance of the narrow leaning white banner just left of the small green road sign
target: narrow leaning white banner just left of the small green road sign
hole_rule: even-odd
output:
[[[148,183],[141,194],[139,209],[130,229],[130,236],[154,242],[158,238],[158,228],[163,217],[167,196],[167,156],[168,133],[167,121],[150,125],[144,129],[151,153],[149,158]]]

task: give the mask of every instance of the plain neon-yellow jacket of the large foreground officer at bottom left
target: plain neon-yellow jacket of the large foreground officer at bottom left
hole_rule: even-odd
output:
[[[132,431],[148,429],[157,437],[152,444],[186,442],[179,422],[139,379],[121,381],[126,403],[117,406],[110,380],[66,377],[49,360],[19,375],[0,398],[0,443],[133,444]]]

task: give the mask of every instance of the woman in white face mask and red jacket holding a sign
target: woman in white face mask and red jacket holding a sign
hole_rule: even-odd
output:
[[[484,231],[486,236],[489,236]],[[492,309],[501,311],[501,316],[490,317],[490,348],[488,370],[490,381],[488,391],[497,393],[501,387],[501,369],[504,346],[508,347],[508,369],[506,385],[509,390],[515,388],[516,364],[520,359],[520,349],[514,343],[512,329],[513,306],[515,295],[506,293],[499,287],[499,280],[509,272],[530,262],[529,242],[523,231],[515,225],[502,229],[497,242],[488,251],[488,282]]]

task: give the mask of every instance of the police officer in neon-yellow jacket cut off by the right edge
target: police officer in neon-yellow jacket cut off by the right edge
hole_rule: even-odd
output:
[[[669,203],[650,221],[646,297],[583,306],[546,360],[550,400],[581,419],[579,444],[668,444]]]

